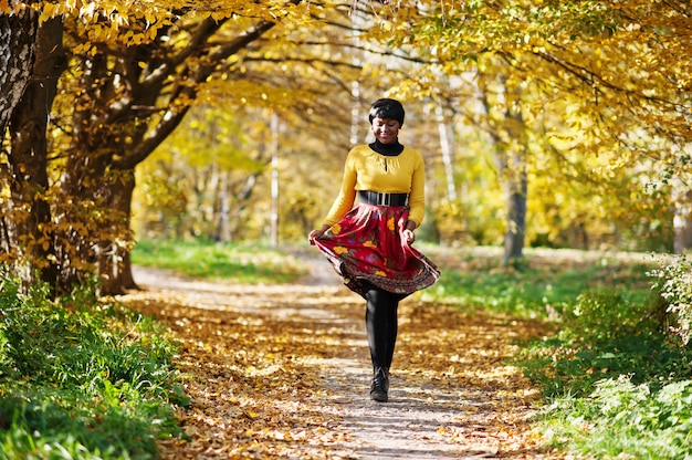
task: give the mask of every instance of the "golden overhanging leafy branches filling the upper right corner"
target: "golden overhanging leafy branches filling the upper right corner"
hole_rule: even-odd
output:
[[[517,0],[422,3],[392,36],[430,49],[437,71],[450,74],[496,72],[493,56],[501,56],[510,75],[580,104],[586,118],[604,125],[602,140],[640,126],[684,142],[689,123],[678,114],[690,113],[689,96],[680,93],[690,90],[689,34],[685,7],[674,2]]]

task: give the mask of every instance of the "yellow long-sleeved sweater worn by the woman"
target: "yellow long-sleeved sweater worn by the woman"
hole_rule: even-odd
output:
[[[359,190],[409,194],[409,220],[420,227],[426,212],[426,168],[422,155],[405,147],[397,156],[380,155],[368,145],[354,147],[346,158],[344,178],[324,221],[334,226],[353,208]]]

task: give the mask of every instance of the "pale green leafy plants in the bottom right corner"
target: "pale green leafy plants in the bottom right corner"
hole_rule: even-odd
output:
[[[581,458],[692,458],[691,380],[652,388],[604,379],[588,398],[556,399],[544,417],[554,443]]]

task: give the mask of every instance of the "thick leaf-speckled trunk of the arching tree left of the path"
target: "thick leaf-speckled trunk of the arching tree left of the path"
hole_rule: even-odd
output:
[[[119,294],[136,285],[127,255],[135,166],[119,167],[118,159],[140,143],[147,126],[132,111],[118,112],[126,97],[108,56],[96,54],[85,67],[55,205],[60,278],[69,289],[95,275],[102,294]],[[151,93],[139,102],[150,106],[156,100]]]

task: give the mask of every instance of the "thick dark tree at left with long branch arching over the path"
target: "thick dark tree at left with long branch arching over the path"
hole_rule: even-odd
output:
[[[64,289],[96,264],[104,292],[119,292],[134,285],[128,250],[135,167],[172,133],[203,85],[242,81],[253,61],[274,61],[280,72],[274,65],[264,75],[281,75],[282,56],[264,55],[266,44],[313,20],[313,4],[45,3],[42,12],[64,15],[70,70],[52,111],[60,129],[52,139],[59,190],[48,244],[54,245]],[[261,40],[280,23],[281,34]],[[21,129],[18,136],[28,134]],[[28,231],[17,239],[46,243],[38,227]]]

